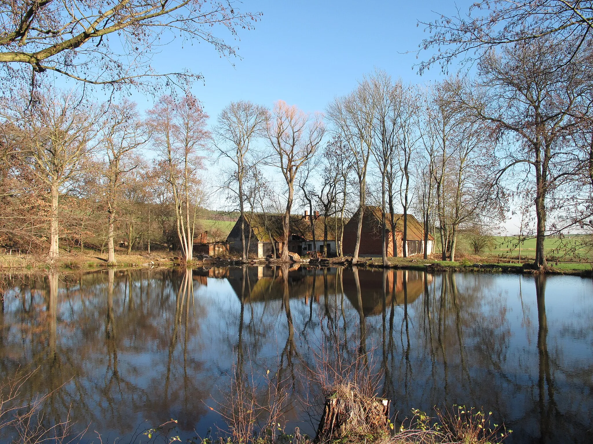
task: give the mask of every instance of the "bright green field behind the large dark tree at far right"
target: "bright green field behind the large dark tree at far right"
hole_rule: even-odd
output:
[[[593,250],[582,247],[580,236],[566,236],[563,239],[547,237],[545,243],[546,256],[549,259],[575,260],[576,262],[593,259]],[[582,239],[582,238],[581,238]],[[518,258],[519,245],[517,236],[495,236],[496,246],[483,254],[504,258]],[[535,239],[524,240],[521,244],[521,259],[535,257]]]

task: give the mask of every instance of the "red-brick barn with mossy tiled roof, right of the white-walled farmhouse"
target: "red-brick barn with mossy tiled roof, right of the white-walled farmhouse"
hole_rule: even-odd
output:
[[[356,233],[358,232],[358,211],[350,218],[344,227],[344,254],[353,255],[356,246]],[[358,254],[361,256],[380,256],[382,255],[381,246],[381,215],[380,207],[367,206],[365,207],[362,216],[362,231],[361,231],[361,246]],[[385,246],[387,247],[387,256],[393,257],[393,236],[391,234],[390,215],[387,214],[387,239]],[[394,214],[393,231],[396,237],[397,256],[403,256],[403,230],[404,230],[404,216],[403,214]],[[422,224],[412,215],[407,215],[407,236],[406,247],[408,256],[417,255],[424,252],[424,229]],[[434,248],[434,238],[428,234],[428,254],[432,254]]]

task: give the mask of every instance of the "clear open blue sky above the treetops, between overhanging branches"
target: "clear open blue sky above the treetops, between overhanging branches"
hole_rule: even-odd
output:
[[[467,9],[466,5],[459,5]],[[174,41],[154,57],[160,72],[189,68],[202,73],[193,86],[211,117],[229,102],[251,100],[271,106],[278,99],[306,111],[323,111],[335,96],[349,92],[374,67],[410,82],[437,79],[439,70],[418,76],[415,54],[426,34],[418,20],[451,12],[442,2],[246,1],[243,11],[261,11],[254,30],[241,30],[239,57],[220,57],[207,43]],[[219,36],[226,36],[221,28]],[[232,37],[227,38],[232,43]],[[234,66],[233,66],[234,65]],[[151,97],[133,94],[141,108]]]

